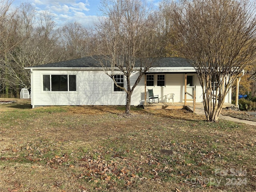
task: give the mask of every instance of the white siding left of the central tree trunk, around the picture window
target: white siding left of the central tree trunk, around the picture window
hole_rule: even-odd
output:
[[[33,104],[44,105],[125,105],[126,93],[113,91],[113,80],[103,71],[72,71],[76,91],[43,91],[43,74],[71,74],[70,71],[33,70]]]

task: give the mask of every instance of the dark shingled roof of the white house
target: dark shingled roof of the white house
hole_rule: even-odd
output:
[[[32,66],[30,68],[101,67],[100,62],[94,58],[96,57],[84,57],[84,58],[62,61],[57,63],[48,63],[44,65]],[[184,58],[166,57],[166,58],[158,58],[154,62],[153,67],[191,67],[191,65]]]

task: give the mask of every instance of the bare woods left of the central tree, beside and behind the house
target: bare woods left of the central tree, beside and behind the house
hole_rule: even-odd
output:
[[[90,55],[88,30],[74,22],[56,27],[54,15],[38,14],[29,3],[11,10],[11,0],[0,2],[0,96],[18,97],[30,87],[26,66],[60,62]]]

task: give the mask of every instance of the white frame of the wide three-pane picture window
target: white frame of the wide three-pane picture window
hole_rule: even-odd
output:
[[[48,89],[48,86],[45,86],[44,84],[44,76],[49,76],[49,80],[50,80],[50,89]],[[68,89],[67,90],[56,90],[53,91],[52,90],[52,76],[67,76],[67,86]],[[75,76],[75,86],[73,87],[73,90],[70,90],[70,76]],[[75,88],[75,90],[74,90]],[[42,74],[42,92],[76,92],[77,91],[77,78],[76,78],[76,74]]]

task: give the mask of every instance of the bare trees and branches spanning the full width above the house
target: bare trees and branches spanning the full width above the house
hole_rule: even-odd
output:
[[[1,1],[1,96],[17,96],[20,88],[29,88],[30,75],[24,66],[90,55],[102,55],[113,64],[117,61],[118,64],[124,61],[132,64],[132,59],[146,56],[193,58],[191,63],[197,69],[198,66],[212,64],[197,71],[202,77],[202,84],[205,81],[212,84],[210,77],[214,76],[215,82],[224,83],[224,87],[224,81],[229,81],[224,78],[224,70],[230,73],[230,67],[239,67],[236,72],[247,68],[240,90],[242,93],[253,90],[255,94],[255,5],[245,0],[163,0],[159,9],[155,10],[142,2],[102,1],[101,11],[108,19],[99,18],[100,22],[88,29],[77,22],[57,27],[53,14],[48,10],[36,14],[31,4],[22,3],[16,10],[10,11],[12,1]],[[113,47],[118,52],[113,53]],[[124,52],[131,54],[131,57]],[[106,57],[111,54],[111,58]],[[119,58],[118,54],[128,57]],[[126,77],[129,76],[131,71],[123,68],[124,65],[118,67],[127,74]],[[215,73],[208,74],[210,68],[214,68]],[[216,69],[222,73],[221,80]],[[113,78],[113,74],[108,75]],[[232,82],[228,82],[226,87]],[[132,92],[132,87],[124,91]],[[210,92],[208,101],[212,98]],[[220,90],[218,99],[225,94],[226,90]]]

